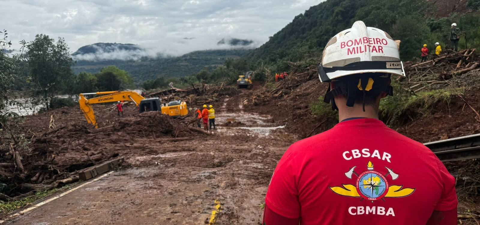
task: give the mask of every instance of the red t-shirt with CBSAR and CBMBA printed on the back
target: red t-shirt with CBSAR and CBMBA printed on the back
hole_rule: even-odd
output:
[[[425,225],[434,210],[458,203],[455,179],[432,151],[375,119],[345,121],[290,146],[265,202],[301,225]]]

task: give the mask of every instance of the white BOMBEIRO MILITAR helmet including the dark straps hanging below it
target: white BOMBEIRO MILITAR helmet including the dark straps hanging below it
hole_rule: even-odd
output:
[[[358,91],[393,95],[388,83],[391,74],[405,77],[403,64],[396,42],[386,32],[365,26],[357,21],[352,28],[332,37],[324,49],[318,76],[322,82],[342,81],[334,89],[328,88],[324,102],[338,109],[335,96],[347,97],[347,106],[352,107]],[[364,98],[365,100],[365,98]],[[365,101],[363,102],[365,111]]]

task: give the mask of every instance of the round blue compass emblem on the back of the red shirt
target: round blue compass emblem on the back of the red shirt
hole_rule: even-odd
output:
[[[366,200],[382,199],[388,192],[388,181],[383,174],[367,170],[361,173],[356,182],[357,191]]]

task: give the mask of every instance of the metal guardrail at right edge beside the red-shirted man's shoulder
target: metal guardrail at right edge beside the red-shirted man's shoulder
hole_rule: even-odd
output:
[[[442,162],[480,158],[480,134],[455,137],[423,144]]]

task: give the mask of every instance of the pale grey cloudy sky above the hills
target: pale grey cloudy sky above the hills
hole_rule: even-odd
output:
[[[218,48],[224,37],[252,39],[259,46],[322,1],[0,0],[0,30],[7,29],[13,43],[36,34],[64,37],[72,52],[116,42],[180,55]]]

